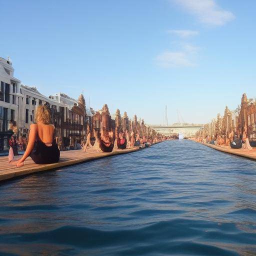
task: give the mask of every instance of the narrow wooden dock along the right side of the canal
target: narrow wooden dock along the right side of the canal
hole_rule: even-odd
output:
[[[202,142],[198,142],[196,140],[193,140],[197,143],[200,143],[202,145],[208,146],[210,148],[213,148],[215,150],[224,152],[224,153],[229,153],[229,154],[234,154],[234,155],[238,155],[241,157],[245,157],[251,160],[256,160],[256,148],[252,147],[251,151],[248,151],[247,149],[234,149],[231,148],[230,146],[224,146],[224,145],[212,145],[212,144],[208,144],[208,143],[202,143]]]

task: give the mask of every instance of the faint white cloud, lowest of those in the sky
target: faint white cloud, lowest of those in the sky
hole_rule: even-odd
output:
[[[156,62],[159,66],[169,67],[189,67],[196,65],[196,55],[198,47],[191,44],[185,44],[180,51],[166,50],[156,56]]]

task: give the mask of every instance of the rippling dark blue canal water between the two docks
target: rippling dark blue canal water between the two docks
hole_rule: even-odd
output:
[[[0,255],[255,255],[256,162],[189,140],[0,184]]]

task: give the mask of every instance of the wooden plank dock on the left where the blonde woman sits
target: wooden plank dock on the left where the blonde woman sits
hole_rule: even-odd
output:
[[[114,149],[110,153],[97,152],[93,149],[88,149],[86,152],[83,152],[82,150],[61,151],[60,159],[57,163],[36,164],[30,157],[28,157],[25,160],[24,165],[19,168],[15,167],[15,165],[8,163],[7,156],[2,156],[0,157],[0,181],[32,174],[39,171],[52,170],[76,163],[88,162],[107,156],[135,152],[138,150],[141,150],[141,148],[133,147],[126,149]],[[20,156],[15,156],[14,160],[18,158],[20,158]]]

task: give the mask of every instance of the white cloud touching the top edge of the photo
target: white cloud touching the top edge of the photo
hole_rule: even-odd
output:
[[[171,0],[173,1],[173,0]],[[223,10],[214,0],[174,0],[205,24],[223,25],[234,19],[231,11]]]

